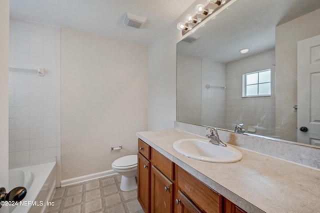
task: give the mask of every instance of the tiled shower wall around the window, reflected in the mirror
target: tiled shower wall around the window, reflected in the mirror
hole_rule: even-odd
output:
[[[227,129],[237,123],[255,128],[260,135],[276,137],[275,129],[275,72],[274,49],[264,51],[226,64],[226,111]],[[271,69],[271,96],[242,97],[242,74]]]

